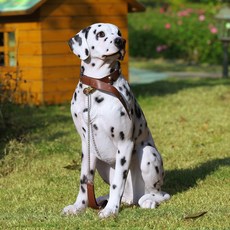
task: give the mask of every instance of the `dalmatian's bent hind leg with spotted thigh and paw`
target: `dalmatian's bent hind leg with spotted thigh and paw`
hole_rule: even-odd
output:
[[[152,146],[143,147],[139,154],[141,154],[140,168],[145,184],[145,195],[139,199],[138,204],[142,208],[155,208],[170,198],[169,194],[161,191],[164,177],[162,158]]]

